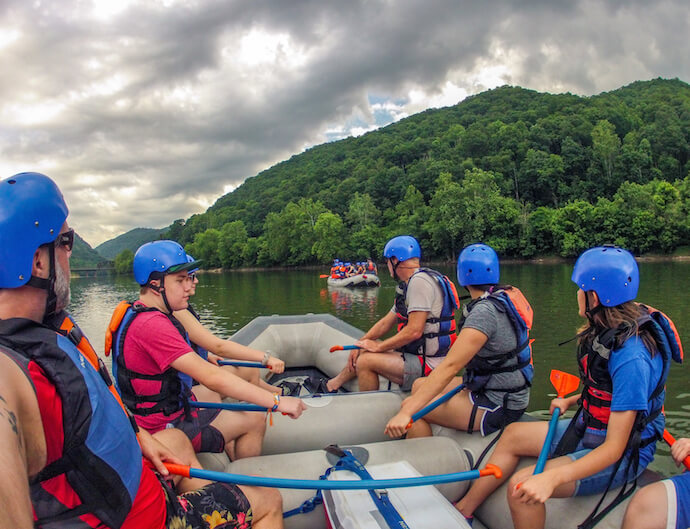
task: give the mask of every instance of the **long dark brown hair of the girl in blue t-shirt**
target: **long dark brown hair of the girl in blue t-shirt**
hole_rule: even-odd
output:
[[[589,292],[585,292],[588,296]],[[590,312],[587,322],[578,329],[578,344],[591,343],[594,338],[609,329],[618,329],[616,347],[620,347],[628,338],[639,336],[652,356],[657,353],[657,346],[652,334],[647,329],[640,329],[638,319],[644,315],[644,309],[635,301],[626,301],[615,307],[600,305]]]

